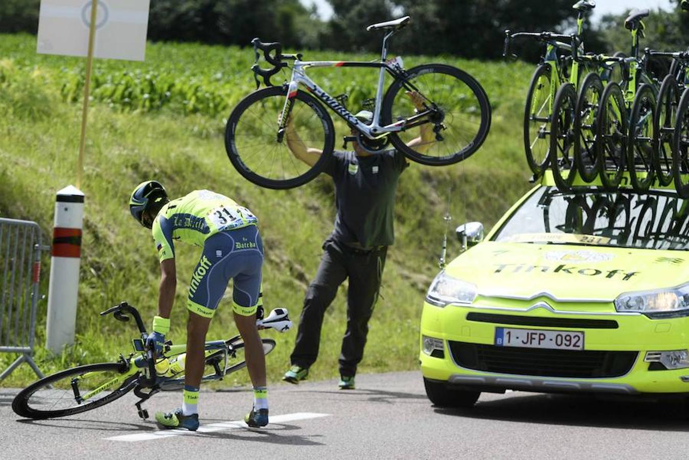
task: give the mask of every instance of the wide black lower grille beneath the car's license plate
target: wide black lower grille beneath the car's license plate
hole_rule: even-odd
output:
[[[451,340],[449,346],[455,363],[464,368],[542,377],[619,377],[629,372],[638,355],[636,351],[549,350]]]

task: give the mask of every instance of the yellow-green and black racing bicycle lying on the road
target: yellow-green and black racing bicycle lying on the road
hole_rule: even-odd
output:
[[[24,388],[12,401],[12,410],[20,417],[50,419],[79,414],[109,404],[134,390],[140,400],[135,404],[138,415],[148,418],[141,408],[147,399],[161,390],[181,390],[184,387],[186,344],[165,342],[163,355],[153,358],[145,349],[146,328],[136,309],[122,302],[101,313],[112,313],[116,320],[127,322],[134,317],[141,338],[133,340],[134,352],[128,357],[120,355],[116,362],[86,364],[44,377]],[[256,321],[259,328],[273,328],[284,332],[292,322],[287,309],[274,309],[265,320]],[[262,339],[267,355],[275,348],[273,339]],[[201,384],[222,380],[225,375],[246,366],[243,357],[244,343],[240,335],[227,340],[205,344],[205,370]]]

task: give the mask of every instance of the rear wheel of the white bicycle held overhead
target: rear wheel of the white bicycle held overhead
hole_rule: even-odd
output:
[[[463,70],[444,64],[424,64],[395,80],[382,104],[382,124],[414,116],[415,107],[406,92],[419,92],[433,113],[426,123],[390,134],[392,145],[422,165],[452,165],[469,158],[491,129],[491,105],[480,83]],[[424,140],[422,134],[430,138]]]

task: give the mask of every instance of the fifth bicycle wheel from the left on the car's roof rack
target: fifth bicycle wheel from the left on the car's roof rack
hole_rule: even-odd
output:
[[[629,145],[627,162],[629,180],[639,193],[648,191],[655,179],[653,162],[653,119],[655,118],[655,94],[649,85],[641,85],[634,97],[629,117]],[[639,173],[645,173],[639,174]]]

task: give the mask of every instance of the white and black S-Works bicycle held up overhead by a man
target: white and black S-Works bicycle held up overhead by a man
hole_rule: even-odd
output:
[[[225,149],[237,171],[254,184],[271,189],[298,187],[315,178],[325,167],[335,143],[333,121],[323,105],[356,132],[356,136],[345,137],[345,144],[356,142],[371,154],[391,144],[410,160],[424,165],[451,165],[469,158],[490,129],[488,96],[471,75],[451,65],[432,63],[405,69],[401,58],[387,59],[390,37],[409,21],[407,16],[369,25],[367,30],[385,32],[380,60],[371,62],[302,61],[302,54],[283,54],[280,43],[254,39],[251,43],[256,63],[251,70],[257,91],[234,108],[225,129]],[[271,68],[260,67],[259,52],[263,52]],[[291,67],[289,82],[272,85],[271,78],[285,67]],[[370,106],[373,121],[366,124],[358,120],[345,107],[343,98],[331,96],[311,80],[307,69],[316,67],[378,69],[376,97]],[[386,74],[393,81],[383,92]],[[258,90],[259,77],[267,88]],[[407,92],[420,95],[422,109],[414,106]],[[291,153],[288,123],[306,149],[322,152],[313,165],[296,160]]]

